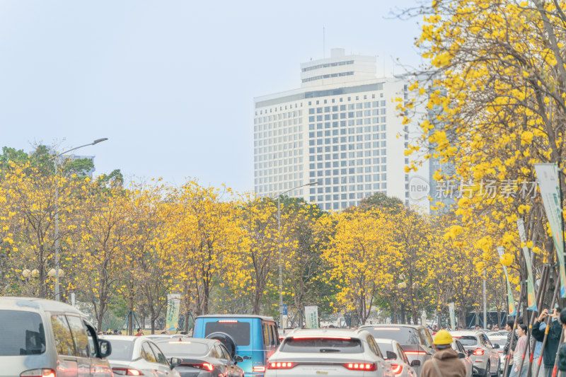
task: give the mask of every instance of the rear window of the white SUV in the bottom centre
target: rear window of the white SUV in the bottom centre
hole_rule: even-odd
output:
[[[338,337],[288,337],[281,352],[359,354],[364,352],[359,339]]]

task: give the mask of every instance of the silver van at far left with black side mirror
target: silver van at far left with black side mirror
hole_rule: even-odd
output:
[[[66,303],[0,297],[1,376],[112,377],[111,350]]]

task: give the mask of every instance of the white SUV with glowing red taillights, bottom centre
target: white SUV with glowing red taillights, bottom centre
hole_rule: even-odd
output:
[[[334,328],[289,333],[268,360],[265,372],[265,377],[318,375],[395,376],[369,332]]]

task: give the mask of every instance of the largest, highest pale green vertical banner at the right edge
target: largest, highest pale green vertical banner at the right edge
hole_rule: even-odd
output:
[[[566,297],[566,270],[564,269],[564,238],[562,234],[562,203],[560,203],[560,181],[558,166],[555,163],[536,163],[538,189],[541,190],[544,211],[550,231],[553,233],[554,247],[560,267],[560,296]]]

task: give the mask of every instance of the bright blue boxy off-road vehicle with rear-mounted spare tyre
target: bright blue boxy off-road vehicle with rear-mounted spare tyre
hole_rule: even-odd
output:
[[[275,320],[261,315],[200,315],[192,337],[220,340],[232,356],[241,356],[238,366],[246,377],[263,377],[267,359],[279,347]]]

